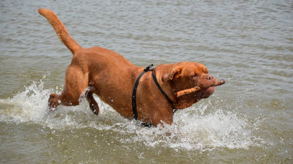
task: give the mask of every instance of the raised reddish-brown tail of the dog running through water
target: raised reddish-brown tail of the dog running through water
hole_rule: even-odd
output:
[[[74,55],[79,50],[82,50],[83,48],[79,46],[78,43],[74,39],[71,38],[71,36],[68,34],[65,26],[63,23],[59,20],[57,15],[48,9],[39,9],[39,13],[43,15],[49,23],[54,28],[55,32],[57,33],[60,41],[64,43],[64,45],[71,51],[71,53]]]

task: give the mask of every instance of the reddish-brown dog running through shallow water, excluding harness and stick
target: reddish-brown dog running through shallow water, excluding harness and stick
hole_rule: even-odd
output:
[[[138,76],[144,68],[136,67],[121,55],[100,47],[82,48],[69,36],[59,18],[48,9],[39,9],[56,31],[59,39],[72,52],[71,64],[67,67],[64,88],[60,95],[52,93],[49,98],[49,110],[62,104],[79,105],[81,93],[90,88],[86,94],[91,110],[99,114],[99,107],[93,93],[109,104],[121,116],[133,119],[132,91]],[[208,74],[202,64],[179,62],[160,64],[154,70],[162,90],[177,109],[190,107],[200,99],[214,93],[217,79]],[[203,90],[176,97],[180,90],[200,86]],[[157,88],[152,72],[146,72],[139,80],[136,103],[138,119],[152,123],[173,123],[173,109],[168,100]]]

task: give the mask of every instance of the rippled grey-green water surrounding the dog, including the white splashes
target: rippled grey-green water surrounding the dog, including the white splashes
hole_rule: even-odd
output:
[[[1,1],[0,163],[293,163],[293,2]],[[46,113],[70,51],[38,8],[84,48],[133,64],[194,61],[223,86],[144,128],[96,100]]]

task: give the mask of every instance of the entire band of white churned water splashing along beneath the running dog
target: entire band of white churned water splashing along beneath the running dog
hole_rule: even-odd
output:
[[[45,78],[45,76],[44,76]],[[93,128],[118,132],[122,143],[144,143],[149,147],[166,146],[174,149],[212,150],[221,148],[242,148],[256,146],[251,124],[245,116],[224,112],[221,107],[214,112],[204,112],[210,101],[176,112],[173,125],[165,128],[145,128],[139,121],[122,118],[114,109],[95,97],[100,114],[94,115],[85,100],[80,97],[80,105],[75,107],[57,107],[47,113],[47,101],[53,89],[43,89],[43,82],[33,84],[12,99],[0,99],[0,121],[33,122],[51,129]],[[206,114],[204,114],[206,113]],[[131,138],[129,136],[132,136]]]

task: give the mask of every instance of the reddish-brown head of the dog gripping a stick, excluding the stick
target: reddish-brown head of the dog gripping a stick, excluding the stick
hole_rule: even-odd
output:
[[[175,92],[199,86],[202,90],[182,95],[177,99],[179,109],[190,107],[200,99],[208,98],[214,93],[217,79],[208,74],[207,68],[196,62],[179,62],[174,64],[169,73],[162,75],[162,82],[168,83]],[[180,103],[181,102],[181,103]]]

